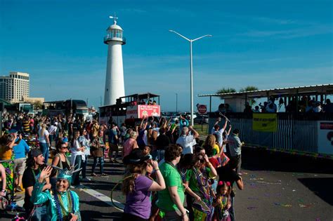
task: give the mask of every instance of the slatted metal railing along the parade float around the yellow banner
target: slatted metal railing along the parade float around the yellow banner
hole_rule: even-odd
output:
[[[240,139],[247,145],[311,153],[318,153],[317,121],[333,120],[332,113],[277,113],[277,115],[276,132],[260,132],[252,129],[252,113],[226,114],[233,129],[240,130]],[[218,116],[218,113],[209,115],[209,133]],[[220,125],[223,123],[222,121]]]

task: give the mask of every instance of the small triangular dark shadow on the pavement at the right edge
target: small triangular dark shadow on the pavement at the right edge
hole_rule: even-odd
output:
[[[333,178],[299,178],[298,180],[320,199],[333,206]]]

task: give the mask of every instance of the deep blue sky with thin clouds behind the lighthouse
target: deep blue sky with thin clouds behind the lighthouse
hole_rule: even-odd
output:
[[[46,100],[104,95],[105,30],[124,29],[126,95],[161,95],[162,110],[190,109],[189,43],[197,94],[333,83],[332,1],[0,0],[0,74],[30,73],[30,95]],[[213,100],[217,107],[221,101]],[[216,109],[214,108],[213,109]]]

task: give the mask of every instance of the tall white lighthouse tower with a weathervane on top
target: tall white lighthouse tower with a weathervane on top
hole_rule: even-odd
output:
[[[125,95],[122,45],[126,43],[126,39],[122,28],[117,25],[117,17],[110,18],[114,19],[114,24],[107,28],[104,37],[104,43],[108,46],[104,105],[115,105],[117,98]]]

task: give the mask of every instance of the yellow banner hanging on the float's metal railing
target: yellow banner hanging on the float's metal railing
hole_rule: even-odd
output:
[[[261,132],[275,132],[278,127],[276,114],[253,114],[252,129]]]

